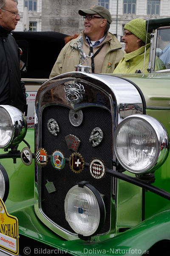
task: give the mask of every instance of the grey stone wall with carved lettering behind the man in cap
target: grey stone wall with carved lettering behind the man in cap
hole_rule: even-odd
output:
[[[98,0],[42,0],[42,31],[55,31],[67,35],[84,29],[79,9],[98,4]]]

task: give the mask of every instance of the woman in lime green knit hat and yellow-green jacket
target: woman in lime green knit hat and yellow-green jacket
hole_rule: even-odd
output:
[[[150,34],[146,32],[145,26],[146,21],[142,19],[130,20],[125,24],[125,34],[122,37],[125,43],[125,55],[113,73],[135,73],[138,69],[141,70],[142,73],[148,73]],[[161,60],[156,61],[156,63],[159,65],[159,70],[162,69]]]

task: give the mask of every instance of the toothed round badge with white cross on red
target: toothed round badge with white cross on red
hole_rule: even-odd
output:
[[[79,153],[73,153],[69,158],[70,168],[73,172],[79,173],[84,169],[84,160]]]

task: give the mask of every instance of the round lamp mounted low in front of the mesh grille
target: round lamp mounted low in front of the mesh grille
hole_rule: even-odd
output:
[[[65,218],[79,235],[96,234],[105,222],[105,204],[91,184],[72,187],[65,197]]]

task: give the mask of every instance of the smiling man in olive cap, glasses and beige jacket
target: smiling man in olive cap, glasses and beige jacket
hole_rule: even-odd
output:
[[[113,73],[114,68],[122,59],[124,52],[116,36],[109,33],[111,24],[110,12],[102,6],[95,5],[89,9],[79,10],[83,16],[85,30],[78,36],[83,37],[82,49],[88,58],[92,73]],[[80,54],[72,51],[72,45],[77,40],[69,41],[61,50],[56,63],[51,71],[50,78],[62,73],[75,71],[75,66],[80,64]],[[87,65],[84,63],[82,65]]]

